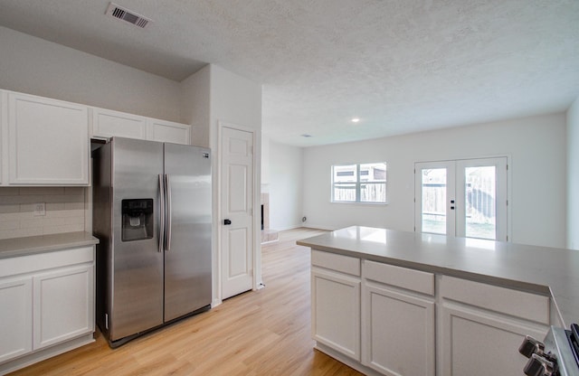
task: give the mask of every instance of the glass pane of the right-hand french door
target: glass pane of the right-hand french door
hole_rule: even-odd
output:
[[[466,167],[464,170],[467,238],[497,238],[496,170],[494,165]]]

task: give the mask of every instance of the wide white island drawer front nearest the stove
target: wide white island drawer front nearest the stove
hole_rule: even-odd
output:
[[[447,276],[441,277],[440,292],[446,299],[549,324],[548,296]]]

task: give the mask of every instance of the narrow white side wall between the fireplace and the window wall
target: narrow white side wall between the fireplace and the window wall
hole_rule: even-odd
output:
[[[270,142],[270,228],[289,230],[301,226],[303,149]]]

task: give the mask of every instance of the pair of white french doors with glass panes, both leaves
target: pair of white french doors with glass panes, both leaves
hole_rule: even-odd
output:
[[[507,241],[507,157],[414,165],[414,230]]]

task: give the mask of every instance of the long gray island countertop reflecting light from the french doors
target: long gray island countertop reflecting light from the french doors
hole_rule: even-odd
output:
[[[553,297],[565,326],[579,322],[579,250],[352,226],[301,246]]]

